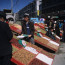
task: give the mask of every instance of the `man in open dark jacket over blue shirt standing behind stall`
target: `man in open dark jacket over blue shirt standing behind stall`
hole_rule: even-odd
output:
[[[24,15],[24,20],[22,23],[22,34],[28,35],[24,40],[35,44],[34,42],[34,23],[29,21],[29,16]]]

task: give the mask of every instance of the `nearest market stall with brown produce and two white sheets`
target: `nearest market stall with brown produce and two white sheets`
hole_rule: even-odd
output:
[[[13,52],[11,61],[17,65],[52,65],[55,57],[31,43],[27,43],[26,47],[19,50],[14,49]]]

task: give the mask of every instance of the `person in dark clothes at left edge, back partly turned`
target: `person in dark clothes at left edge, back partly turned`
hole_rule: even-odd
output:
[[[5,23],[6,15],[0,11],[0,65],[10,65],[10,59],[12,57],[12,46],[10,40],[13,34]]]

